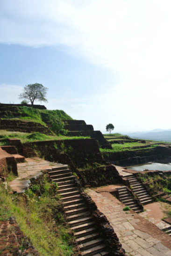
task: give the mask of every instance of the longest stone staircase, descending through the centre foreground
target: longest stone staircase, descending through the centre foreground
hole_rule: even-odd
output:
[[[103,238],[100,237],[93,216],[86,207],[68,165],[52,167],[49,171],[52,181],[58,184],[68,224],[74,232],[82,255],[109,255]]]

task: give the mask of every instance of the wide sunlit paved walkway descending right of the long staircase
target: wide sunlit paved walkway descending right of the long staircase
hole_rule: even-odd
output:
[[[110,221],[128,256],[171,256],[169,235],[134,211],[124,212],[125,205],[110,193],[86,192]]]

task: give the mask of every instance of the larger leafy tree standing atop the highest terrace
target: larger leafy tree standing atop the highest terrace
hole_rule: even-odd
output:
[[[29,100],[31,104],[34,104],[35,100],[40,102],[47,102],[45,98],[47,95],[48,88],[42,84],[28,84],[24,87],[23,93],[19,95],[19,99]]]

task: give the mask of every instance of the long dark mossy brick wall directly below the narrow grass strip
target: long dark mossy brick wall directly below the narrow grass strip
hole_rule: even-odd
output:
[[[30,157],[36,154],[49,161],[58,162],[60,160],[61,163],[64,163],[61,161],[61,156],[67,154],[78,168],[93,162],[103,162],[99,145],[95,139],[47,140],[23,144],[22,155]]]

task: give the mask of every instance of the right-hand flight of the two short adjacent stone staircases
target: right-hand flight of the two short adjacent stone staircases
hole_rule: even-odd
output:
[[[153,198],[149,195],[146,188],[142,185],[142,183],[135,177],[135,175],[131,174],[125,177],[128,179],[131,189],[134,194],[138,197],[142,205],[150,204],[153,202]]]

